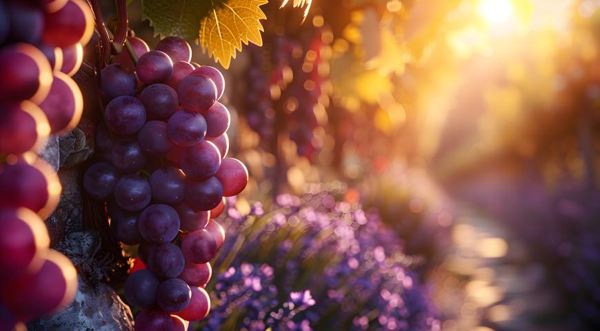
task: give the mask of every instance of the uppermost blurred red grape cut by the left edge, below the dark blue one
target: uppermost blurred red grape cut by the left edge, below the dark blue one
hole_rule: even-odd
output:
[[[0,100],[46,99],[52,84],[50,62],[41,50],[14,43],[0,50]]]

